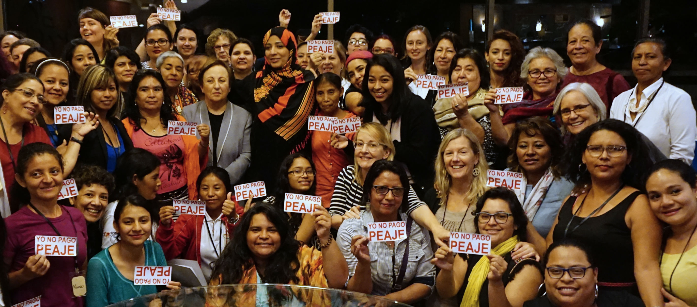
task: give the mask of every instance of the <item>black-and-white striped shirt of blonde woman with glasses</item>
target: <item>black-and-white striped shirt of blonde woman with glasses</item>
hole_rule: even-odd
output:
[[[334,185],[334,194],[332,194],[332,202],[329,205],[330,215],[344,215],[351,207],[358,206],[360,210],[365,210],[365,204],[360,203],[363,197],[363,187],[355,182],[355,166],[346,166],[339,173],[337,183]],[[416,210],[421,205],[426,205],[419,199],[412,187],[409,187],[409,193],[406,196],[409,204],[406,213],[411,215],[411,212]]]

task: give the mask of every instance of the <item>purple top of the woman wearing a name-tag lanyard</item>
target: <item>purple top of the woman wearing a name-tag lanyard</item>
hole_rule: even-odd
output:
[[[87,258],[87,224],[79,210],[74,207],[61,207],[63,213],[60,217],[48,219],[61,235],[77,237],[77,265],[82,267]],[[34,255],[34,236],[56,235],[46,220],[32,212],[29,206],[24,206],[7,217],[5,224],[7,243],[3,256],[10,272],[22,269],[26,259]],[[71,274],[75,274],[75,257],[47,256],[46,258],[51,264],[46,274],[13,290],[10,305],[41,295],[41,306],[84,306],[84,297],[72,297]]]

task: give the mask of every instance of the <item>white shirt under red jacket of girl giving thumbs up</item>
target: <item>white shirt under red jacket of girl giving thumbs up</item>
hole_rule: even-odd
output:
[[[228,234],[225,223],[222,221],[222,214],[214,220],[208,216],[206,211],[204,217],[206,220],[201,224],[201,271],[204,272],[206,281],[210,281],[210,273],[213,271],[211,265],[220,257],[222,249],[225,248]],[[208,224],[207,228],[206,224]],[[211,238],[213,238],[212,242]]]

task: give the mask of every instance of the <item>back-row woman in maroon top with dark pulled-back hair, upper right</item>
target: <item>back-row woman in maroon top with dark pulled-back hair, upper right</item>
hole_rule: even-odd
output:
[[[622,74],[598,63],[597,54],[602,47],[602,29],[595,22],[582,19],[573,24],[567,32],[567,56],[572,66],[561,87],[574,82],[590,84],[610,111],[615,97],[630,87]]]

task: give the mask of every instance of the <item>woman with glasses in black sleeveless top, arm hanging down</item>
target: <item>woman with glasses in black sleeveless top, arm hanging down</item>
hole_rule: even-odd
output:
[[[588,244],[600,290],[638,290],[646,306],[662,306],[661,225],[637,189],[651,163],[647,152],[636,129],[619,120],[583,129],[564,164],[567,178],[588,190],[564,200],[547,245],[564,238]]]

